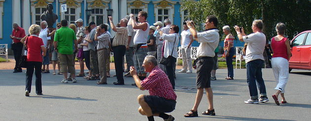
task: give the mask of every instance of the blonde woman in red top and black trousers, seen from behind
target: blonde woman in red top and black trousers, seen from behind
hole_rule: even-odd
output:
[[[46,49],[44,47],[43,40],[39,38],[40,26],[33,24],[29,28],[29,34],[31,36],[25,36],[21,42],[25,43],[27,47],[27,59],[26,59],[26,91],[25,96],[29,96],[31,92],[31,83],[33,80],[33,74],[35,70],[36,75],[36,93],[37,95],[42,95],[42,85],[41,85],[41,65],[42,65],[42,53],[43,56],[46,54]],[[25,41],[24,41],[25,40]]]

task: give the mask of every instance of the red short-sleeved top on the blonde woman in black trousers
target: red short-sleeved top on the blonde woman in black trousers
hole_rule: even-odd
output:
[[[42,62],[41,46],[44,46],[43,40],[36,35],[29,36],[27,42],[27,61]]]

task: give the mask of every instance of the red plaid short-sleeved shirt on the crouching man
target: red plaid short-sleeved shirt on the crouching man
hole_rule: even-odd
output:
[[[176,100],[177,98],[171,82],[158,66],[151,71],[145,80],[140,81],[140,83],[145,89],[149,90],[150,95],[164,97],[167,100]]]

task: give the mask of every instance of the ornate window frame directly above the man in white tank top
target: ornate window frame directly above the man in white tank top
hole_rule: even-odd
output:
[[[148,13],[148,3],[147,0],[127,0],[127,14],[131,14],[132,9],[142,9]],[[137,15],[136,15],[137,17]]]

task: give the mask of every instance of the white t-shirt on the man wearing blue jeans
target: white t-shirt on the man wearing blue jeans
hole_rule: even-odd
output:
[[[248,36],[243,36],[243,40],[247,44],[245,62],[256,59],[264,60],[264,50],[266,45],[266,36],[263,33],[257,32]]]

